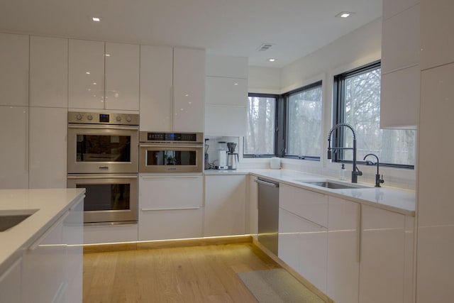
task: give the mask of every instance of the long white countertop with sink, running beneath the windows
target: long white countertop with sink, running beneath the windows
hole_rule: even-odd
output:
[[[399,189],[395,187],[374,187],[371,184],[358,182],[358,184],[365,185],[367,188],[355,189],[329,189],[319,187],[316,185],[307,184],[301,181],[316,181],[316,180],[336,180],[335,177],[326,177],[321,175],[312,175],[306,172],[297,172],[294,170],[205,170],[205,175],[255,175],[263,177],[275,182],[301,187],[302,189],[309,189],[314,192],[323,194],[330,194],[334,197],[348,199],[350,201],[358,202],[361,204],[374,206],[380,209],[394,211],[399,214],[407,216],[415,215],[416,194],[413,190]],[[349,183],[349,182],[346,182]]]

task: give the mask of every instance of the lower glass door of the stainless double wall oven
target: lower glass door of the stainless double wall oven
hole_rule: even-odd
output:
[[[137,175],[68,176],[68,187],[86,189],[86,224],[137,221],[137,183]]]

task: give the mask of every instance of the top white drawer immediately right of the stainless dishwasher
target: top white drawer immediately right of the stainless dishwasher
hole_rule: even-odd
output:
[[[328,196],[281,184],[279,207],[320,226],[328,226]]]

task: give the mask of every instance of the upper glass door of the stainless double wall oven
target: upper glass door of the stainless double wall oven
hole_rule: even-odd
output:
[[[68,172],[137,172],[135,127],[70,126]]]

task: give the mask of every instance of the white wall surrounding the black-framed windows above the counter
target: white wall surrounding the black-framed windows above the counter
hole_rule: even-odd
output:
[[[344,35],[314,53],[301,57],[282,69],[250,67],[249,92],[285,93],[313,82],[323,81],[323,133],[331,128],[333,76],[380,60],[382,50],[381,18]],[[279,85],[277,85],[279,83]],[[277,89],[279,86],[279,89]],[[326,136],[323,138],[323,150],[327,148]],[[331,163],[322,153],[321,161],[283,159],[282,167],[337,177],[339,165]],[[245,162],[254,160],[245,159]],[[263,162],[263,160],[261,160]],[[346,165],[351,170],[350,165]],[[376,167],[360,165],[364,173],[360,182],[375,182]],[[401,170],[381,167],[385,185],[414,189],[416,174],[414,170]]]

